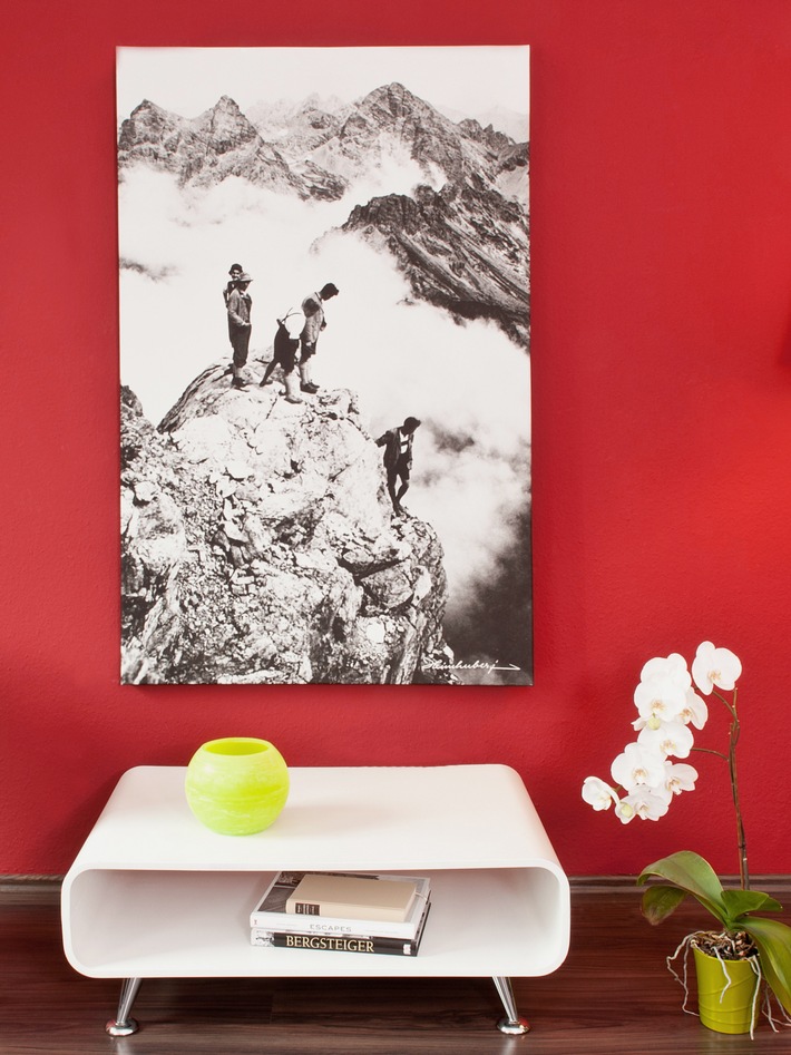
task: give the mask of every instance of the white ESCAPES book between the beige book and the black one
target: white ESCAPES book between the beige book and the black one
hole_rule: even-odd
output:
[[[372,873],[333,873],[360,878]],[[370,917],[295,915],[286,910],[286,902],[305,876],[305,872],[279,872],[264,891],[263,897],[250,915],[251,928],[289,934],[344,935],[368,937],[392,937],[409,940],[414,938],[431,888],[424,876],[377,876],[414,886],[414,897],[407,918],[402,921],[372,919]]]

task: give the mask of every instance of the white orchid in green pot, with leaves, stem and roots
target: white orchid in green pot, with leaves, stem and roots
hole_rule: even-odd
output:
[[[741,730],[736,681],[741,672],[739,658],[711,642],[699,646],[691,673],[683,656],[675,653],[650,660],[634,694],[638,716],[633,726],[637,739],[626,745],[611,768],[615,787],[597,776],[588,776],[583,783],[583,799],[595,810],[614,807],[624,824],[635,817],[656,821],[667,812],[674,795],[692,791],[697,780],[692,765],[672,760],[703,751],[727,763],[736,814],[739,888],[724,889],[711,864],[692,850],[681,850],[654,861],[643,869],[637,882],[660,880],[652,882],[643,895],[643,914],[651,924],[662,922],[686,897],[695,898],[711,914],[716,921],[715,929],[687,935],[667,958],[667,965],[686,990],[685,981],[673,969],[673,961],[684,954],[685,978],[686,958],[692,950],[701,1020],[720,1033],[752,1034],[762,989],[768,990],[763,1009],[772,1027],[777,1028],[769,991],[777,998],[785,1024],[791,1024],[791,927],[756,915],[782,911],[782,906],[768,893],[750,888],[736,775]],[[694,744],[690,726],[703,729],[709,710],[695,692],[693,681],[701,693],[713,694],[729,711],[726,753]],[[738,996],[742,1006],[732,1007]],[[686,997],[684,1010],[687,1010]]]

